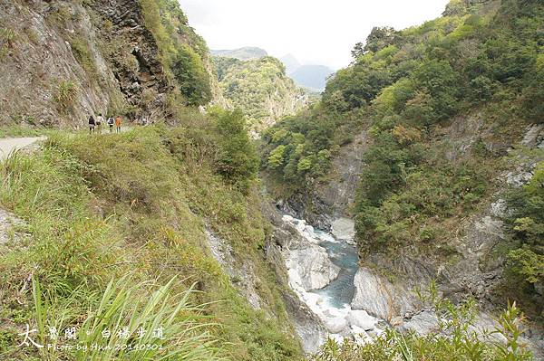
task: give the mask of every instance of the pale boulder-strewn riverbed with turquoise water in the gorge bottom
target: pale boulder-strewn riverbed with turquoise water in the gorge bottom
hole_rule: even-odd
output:
[[[289,286],[321,319],[327,337],[338,341],[350,337],[364,344],[381,335],[386,327],[383,320],[351,307],[358,270],[353,221],[335,221],[332,234],[290,215],[284,215],[282,221],[284,228],[300,236],[284,249]]]

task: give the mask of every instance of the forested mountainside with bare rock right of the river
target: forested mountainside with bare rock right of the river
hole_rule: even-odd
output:
[[[456,0],[421,26],[374,28],[321,102],[267,130],[287,211],[355,217],[355,286],[376,295],[352,307],[402,323],[413,288],[436,280],[483,309],[516,300],[541,325],[543,16],[540,1]]]

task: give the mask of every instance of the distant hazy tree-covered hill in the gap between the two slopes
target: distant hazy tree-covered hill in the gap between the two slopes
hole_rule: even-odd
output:
[[[240,61],[214,57],[219,87],[231,108],[241,109],[259,132],[277,120],[306,109],[312,98],[287,76],[285,66],[271,56]]]

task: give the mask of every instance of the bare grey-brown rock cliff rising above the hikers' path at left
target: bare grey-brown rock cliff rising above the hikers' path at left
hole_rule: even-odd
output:
[[[137,0],[0,2],[0,124],[79,128],[92,112],[168,118],[168,98],[184,84],[164,59],[166,35],[155,6]],[[199,54],[210,100],[222,104],[205,44],[193,40],[198,35],[183,21],[172,20],[176,41]]]

